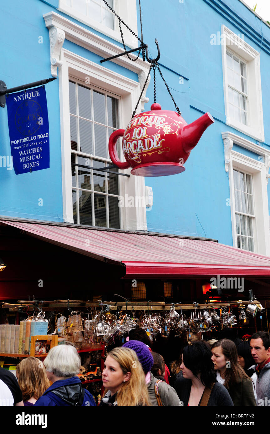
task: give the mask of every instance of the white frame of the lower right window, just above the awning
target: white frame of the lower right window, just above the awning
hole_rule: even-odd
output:
[[[270,226],[267,195],[270,151],[232,132],[223,132],[222,138],[224,143],[225,170],[229,173],[233,247],[237,248],[235,217],[237,211],[235,209],[233,184],[233,169],[237,169],[252,176],[253,212],[255,215],[253,220],[254,252],[270,256]],[[258,155],[257,160],[235,151],[233,145],[239,145],[254,152]]]

